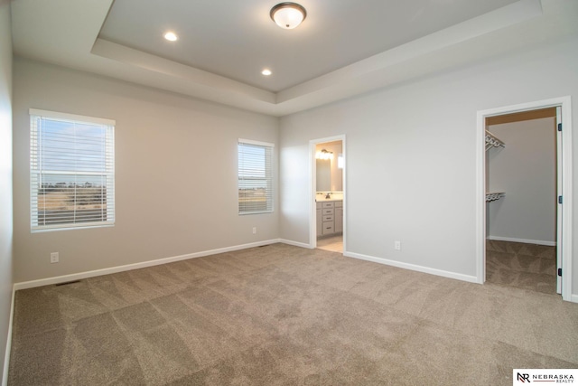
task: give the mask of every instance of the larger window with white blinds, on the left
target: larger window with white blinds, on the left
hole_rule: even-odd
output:
[[[115,121],[30,110],[32,231],[115,223]]]

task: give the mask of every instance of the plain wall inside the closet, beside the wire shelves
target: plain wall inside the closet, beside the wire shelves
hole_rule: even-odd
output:
[[[489,202],[489,238],[553,244],[556,240],[555,118],[493,125],[506,147],[490,149],[489,192],[506,196]]]

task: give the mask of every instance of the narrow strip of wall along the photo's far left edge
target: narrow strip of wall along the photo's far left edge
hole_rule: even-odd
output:
[[[10,2],[0,0],[0,366],[5,358],[12,304],[12,31]]]

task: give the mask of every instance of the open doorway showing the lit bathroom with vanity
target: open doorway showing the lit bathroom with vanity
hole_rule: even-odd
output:
[[[310,142],[312,248],[343,253],[345,240],[345,136]]]

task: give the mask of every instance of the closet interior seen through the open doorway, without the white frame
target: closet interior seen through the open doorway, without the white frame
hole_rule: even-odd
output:
[[[486,118],[488,283],[556,293],[556,110]]]

